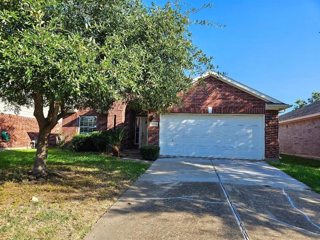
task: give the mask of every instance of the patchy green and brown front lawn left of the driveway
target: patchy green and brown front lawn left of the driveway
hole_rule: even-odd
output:
[[[49,149],[50,175],[35,180],[34,157],[35,149],[0,151],[0,239],[82,239],[149,167]]]

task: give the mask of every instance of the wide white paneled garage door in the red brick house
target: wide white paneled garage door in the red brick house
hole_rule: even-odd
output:
[[[262,116],[162,115],[160,154],[263,159]]]

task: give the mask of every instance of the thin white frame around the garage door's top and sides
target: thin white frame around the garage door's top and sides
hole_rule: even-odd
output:
[[[224,114],[224,113],[169,113],[165,115],[209,115],[209,116],[216,116],[216,115],[222,115],[222,116],[261,116],[262,118],[262,160],[265,159],[265,147],[266,147],[266,140],[265,140],[265,114]],[[160,119],[159,119],[159,146],[161,146],[161,116],[160,114]]]

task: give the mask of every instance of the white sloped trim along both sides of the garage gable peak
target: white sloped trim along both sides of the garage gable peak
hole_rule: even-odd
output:
[[[242,83],[239,83],[229,77],[226,77],[226,76],[221,76],[219,75],[217,72],[215,71],[208,71],[200,76],[197,76],[195,78],[193,78],[193,83],[192,84],[195,84],[200,78],[206,78],[208,76],[214,76],[218,79],[220,79],[222,82],[225,82],[225,83],[228,83],[238,89],[241,89],[242,91],[244,92],[247,92],[257,98],[260,98],[266,102],[272,102],[272,103],[280,103],[280,104],[283,104],[283,102],[280,102],[279,100],[276,100],[274,98],[271,98],[270,96],[266,95],[266,94],[263,94],[262,92],[259,92],[251,87],[248,87]]]

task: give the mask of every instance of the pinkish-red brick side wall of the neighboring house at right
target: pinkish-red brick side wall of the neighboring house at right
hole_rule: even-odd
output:
[[[279,124],[281,153],[320,157],[320,117]]]

